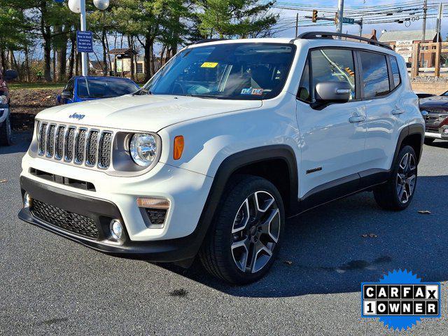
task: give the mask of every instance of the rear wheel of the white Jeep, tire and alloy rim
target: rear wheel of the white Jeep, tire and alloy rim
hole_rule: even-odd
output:
[[[404,146],[393,164],[391,178],[373,190],[379,207],[400,211],[409,207],[417,184],[417,159],[414,148]]]

